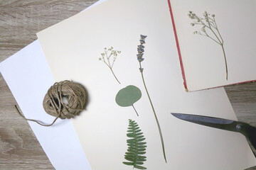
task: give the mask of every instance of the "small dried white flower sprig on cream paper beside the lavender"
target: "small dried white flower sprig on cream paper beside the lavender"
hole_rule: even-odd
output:
[[[105,47],[104,52],[101,53],[101,57],[99,58],[100,61],[104,62],[107,65],[107,67],[110,68],[114,78],[117,80],[117,82],[119,84],[120,84],[120,82],[113,72],[113,66],[114,66],[115,60],[117,60],[117,55],[120,53],[121,53],[121,51],[114,50],[113,47],[110,47],[108,49],[107,49],[107,47]]]

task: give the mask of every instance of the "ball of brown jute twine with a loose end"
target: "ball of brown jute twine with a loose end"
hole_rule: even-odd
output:
[[[43,99],[43,108],[46,113],[55,117],[55,120],[53,120],[53,123],[55,123],[58,118],[74,118],[75,115],[78,115],[78,113],[85,109],[86,102],[87,95],[85,88],[81,84],[65,80],[56,82],[53,86],[50,86]],[[17,106],[15,107],[18,111]],[[18,113],[25,118],[20,111]],[[43,126],[53,125],[53,123],[45,125],[38,120],[25,119]]]

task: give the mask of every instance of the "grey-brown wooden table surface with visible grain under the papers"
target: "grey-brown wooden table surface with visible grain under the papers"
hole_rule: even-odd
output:
[[[38,31],[96,1],[0,0],[0,62],[36,40]],[[226,86],[225,91],[238,120],[256,126],[256,82]],[[14,105],[14,96],[0,74],[0,169],[54,169]]]

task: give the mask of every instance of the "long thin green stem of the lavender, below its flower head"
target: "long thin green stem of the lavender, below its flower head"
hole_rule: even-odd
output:
[[[159,120],[158,120],[158,118],[157,118],[157,116],[156,116],[156,112],[155,112],[155,110],[154,110],[153,103],[152,103],[151,98],[150,98],[150,96],[149,96],[149,91],[148,91],[147,88],[146,88],[146,83],[145,83],[145,80],[144,80],[144,75],[143,75],[143,70],[142,70],[142,63],[141,63],[141,62],[139,62],[139,67],[140,67],[141,74],[142,74],[142,81],[143,81],[143,84],[144,84],[144,88],[146,89],[146,94],[147,94],[147,96],[149,97],[149,102],[150,102],[151,108],[152,108],[152,110],[153,110],[153,112],[154,112],[154,117],[155,117],[155,119],[156,119],[156,124],[157,124],[157,127],[158,127],[158,129],[159,129],[159,135],[160,135],[160,138],[161,138],[161,145],[162,145],[163,154],[164,154],[164,160],[165,160],[165,162],[167,163],[167,161],[166,161],[165,149],[164,149],[164,138],[163,138],[163,135],[162,135],[162,133],[161,133],[161,128],[160,128],[160,125],[159,125]]]

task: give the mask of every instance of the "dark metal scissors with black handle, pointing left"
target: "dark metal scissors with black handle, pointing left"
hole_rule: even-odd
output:
[[[179,118],[181,120],[196,123],[199,125],[205,125],[211,128],[218,128],[221,130],[228,130],[232,132],[240,132],[242,135],[245,135],[247,141],[252,145],[250,147],[256,157],[256,128],[247,123],[223,118],[213,118],[203,115],[189,115],[183,113],[171,113],[171,115],[174,115],[176,118]]]

